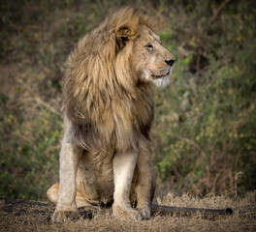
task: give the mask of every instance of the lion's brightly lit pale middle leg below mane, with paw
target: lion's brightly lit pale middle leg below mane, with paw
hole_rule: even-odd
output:
[[[138,158],[137,151],[116,153],[113,157],[114,192],[112,213],[114,217],[141,218],[140,213],[131,207],[129,193]]]

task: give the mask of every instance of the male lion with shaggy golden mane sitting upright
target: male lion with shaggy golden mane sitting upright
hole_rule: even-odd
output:
[[[80,39],[68,61],[59,183],[48,189],[52,220],[112,200],[115,217],[150,217],[151,85],[168,83],[174,56],[150,20],[126,7]]]

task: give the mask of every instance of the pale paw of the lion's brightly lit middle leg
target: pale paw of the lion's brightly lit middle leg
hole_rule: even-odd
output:
[[[122,207],[113,203],[112,216],[121,220],[141,220],[143,217],[139,211],[133,210],[132,207]]]

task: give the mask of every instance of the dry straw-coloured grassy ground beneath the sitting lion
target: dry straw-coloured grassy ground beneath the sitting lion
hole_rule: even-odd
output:
[[[78,221],[51,223],[54,205],[48,202],[9,200],[0,197],[0,231],[256,231],[256,193],[240,199],[227,196],[197,198],[169,193],[159,204],[178,207],[233,209],[231,216],[193,214],[155,215],[149,220],[118,221],[111,210],[80,217]]]

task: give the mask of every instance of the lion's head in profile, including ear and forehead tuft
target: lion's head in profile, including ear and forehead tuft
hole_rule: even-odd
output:
[[[153,82],[158,86],[165,85],[169,82],[175,57],[162,45],[159,37],[152,31],[151,22],[144,14],[137,14],[132,8],[125,8],[120,14],[126,17],[130,12],[133,17],[137,16],[138,21],[134,23],[131,20],[127,25],[119,25],[116,30],[118,52],[124,53],[123,56],[127,59],[125,65],[129,64],[137,80]],[[122,54],[119,56],[122,57]],[[122,58],[122,61],[124,60]]]

